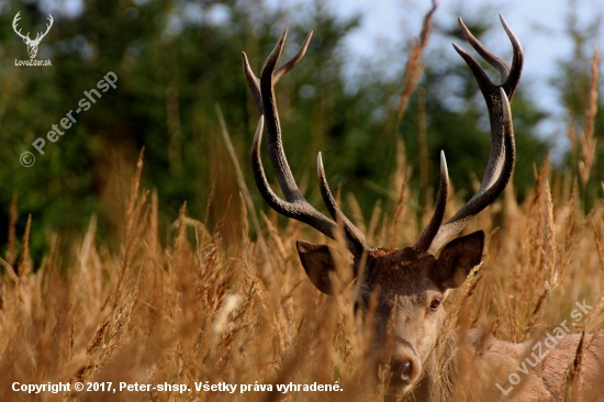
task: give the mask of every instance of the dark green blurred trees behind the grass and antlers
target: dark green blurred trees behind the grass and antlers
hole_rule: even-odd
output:
[[[18,232],[23,233],[30,213],[37,227],[31,238],[34,260],[54,238],[61,247],[61,238],[82,233],[92,214],[99,215],[99,236],[118,232],[130,183],[118,181],[115,174],[133,171],[143,147],[144,185],[157,189],[160,224],[167,236],[183,202],[188,215],[205,219],[213,182],[213,204],[221,208],[210,209],[210,224],[225,212],[228,202],[232,213],[238,213],[239,189],[221,136],[216,105],[224,113],[256,208],[267,210],[249,172],[248,152],[259,114],[242,72],[241,52],[247,53],[259,71],[286,26],[286,57],[314,31],[304,62],[277,88],[288,158],[294,176],[307,183],[311,203],[322,208],[315,185],[320,150],[332,188],[354,193],[366,219],[378,200],[391,208],[400,139],[414,172],[411,187],[417,193],[422,186],[437,182],[440,149],[447,155],[452,185],[465,198],[473,193],[472,180],[482,178],[490,147],[486,108],[461,58],[450,47],[429,48],[424,54],[423,96],[412,97],[396,131],[403,71],[384,76],[368,65],[354,82],[345,74],[350,62],[340,45],[362,15],[342,19],[322,1],[300,13],[261,1],[93,0],[74,15],[53,15],[54,26],[38,53],[41,59],[51,58],[53,67],[25,68],[14,67],[13,62],[26,58],[25,46],[11,27],[18,11],[25,31],[32,27],[34,32],[46,18],[33,2],[0,8],[0,244],[7,244],[11,200],[18,194]],[[480,22],[483,19],[478,16],[465,21],[478,37],[501,29]],[[456,22],[455,15],[451,22]],[[435,30],[465,43],[454,23]],[[584,53],[589,32],[581,36],[585,32],[573,27],[571,21],[568,34],[577,37],[578,54],[561,64],[555,85],[568,103],[569,125],[580,133],[586,107],[579,100],[586,99],[591,82],[591,54]],[[401,37],[400,53],[388,57],[406,59],[410,42]],[[32,142],[76,109],[82,92],[108,71],[118,75],[118,88],[80,113],[57,143],[47,142],[45,155],[34,152],[33,167],[22,167],[21,153],[32,150]],[[528,82],[521,83],[513,103],[518,149],[514,182],[521,199],[535,180],[534,166],[543,163],[549,147],[535,135],[548,112],[525,96],[527,88]],[[596,120],[594,138],[602,137],[601,120]],[[418,133],[423,121],[427,148],[422,153]],[[594,146],[597,164],[602,147]],[[577,139],[556,169],[577,172],[580,152]],[[426,166],[427,185],[420,180],[421,164]],[[268,174],[275,182],[272,172]],[[602,179],[602,169],[592,168],[591,178],[582,183],[584,193],[592,199],[601,197]],[[420,213],[425,198],[418,196],[417,204],[411,206]],[[0,254],[4,255],[4,249]]]

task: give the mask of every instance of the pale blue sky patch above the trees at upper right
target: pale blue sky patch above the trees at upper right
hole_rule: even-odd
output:
[[[423,15],[432,4],[429,0],[334,0],[333,2],[338,13],[343,15],[353,15],[359,11],[362,13],[362,26],[350,35],[346,44],[346,51],[350,55],[359,56],[367,56],[371,52],[379,53],[380,47],[383,48],[380,44],[383,45],[389,37],[410,41],[413,36],[417,36]],[[545,137],[556,138],[553,142],[558,153],[568,145],[564,115],[559,96],[548,86],[548,81],[555,76],[556,60],[568,59],[572,55],[572,44],[563,34],[571,3],[577,7],[580,22],[592,22],[604,13],[603,0],[572,2],[569,0],[440,0],[435,14],[435,23],[450,25],[456,23],[455,11],[461,10],[460,16],[469,20],[477,14],[480,5],[489,4],[495,13],[483,18],[492,19],[490,22],[496,26],[501,26],[496,13],[503,14],[525,51],[521,85],[528,86],[533,99],[543,109],[553,113],[553,119],[539,126],[538,131]],[[603,42],[603,31],[600,30],[597,38],[593,38],[589,44],[590,55],[596,43]],[[495,54],[511,57],[510,42],[503,29],[493,30],[492,34],[480,40]],[[426,52],[429,52],[432,46],[449,45],[443,42],[443,37],[433,36]],[[458,44],[476,55],[465,41],[459,41]],[[452,47],[450,52],[455,55]],[[392,57],[389,63],[396,64],[405,60],[406,55],[402,59]]]

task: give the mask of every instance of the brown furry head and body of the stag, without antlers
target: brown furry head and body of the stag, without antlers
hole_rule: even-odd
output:
[[[449,401],[454,394],[459,398],[461,391],[456,384],[461,381],[473,383],[481,390],[477,394],[482,398],[489,394],[494,400],[558,402],[571,395],[572,401],[604,402],[604,336],[600,335],[586,335],[581,353],[578,353],[579,334],[560,335],[552,349],[545,346],[544,337],[539,353],[533,349],[535,342],[514,344],[472,330],[462,336],[461,348],[456,336],[445,339],[443,355],[447,361],[444,365],[437,361],[434,350],[446,312],[441,308],[432,310],[432,303],[445,299],[450,289],[463,282],[477,256],[480,260],[482,241],[477,234],[460,237],[449,243],[438,258],[412,247],[378,248],[368,253],[365,269],[356,261],[360,275],[357,306],[368,311],[370,301],[377,300],[373,361],[377,367],[389,365],[392,369],[389,394],[401,397],[412,392],[412,401]],[[306,253],[301,257],[309,276],[335,270],[326,263],[333,261],[328,255],[334,252],[328,247],[299,249]],[[581,359],[573,381],[578,354]],[[532,367],[525,359],[536,361],[536,356],[543,359]],[[460,359],[470,367],[459,371],[476,378],[458,378]],[[410,381],[399,381],[394,378],[395,367],[406,360],[414,367],[413,375]],[[508,390],[512,386],[508,377],[513,373],[519,377],[519,382]],[[497,383],[508,392],[504,394]],[[468,389],[462,393],[463,400],[477,400]]]

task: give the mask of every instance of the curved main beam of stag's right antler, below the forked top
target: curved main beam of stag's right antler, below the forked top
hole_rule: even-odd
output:
[[[501,174],[499,175],[496,181],[489,189],[484,190],[483,193],[478,196],[478,192],[474,197],[470,199],[450,220],[445,222],[443,226],[438,230],[438,233],[432,245],[428,248],[428,253],[435,254],[445,243],[447,243],[452,236],[459,233],[466,224],[480,211],[485,209],[491,202],[493,202],[505,189],[512,172],[514,171],[514,163],[516,160],[516,146],[514,144],[514,126],[512,124],[512,111],[510,109],[510,102],[505,94],[505,90],[500,88],[500,97],[502,100],[501,109],[496,112],[497,116],[501,118],[501,127],[504,133],[504,149],[505,157]],[[491,112],[491,110],[490,110]],[[493,119],[491,119],[493,121]]]

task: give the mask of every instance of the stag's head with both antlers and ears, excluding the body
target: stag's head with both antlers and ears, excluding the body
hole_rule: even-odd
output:
[[[356,309],[367,312],[372,295],[377,295],[373,312],[373,355],[378,365],[388,364],[390,387],[406,392],[417,382],[422,365],[435,347],[446,313],[440,308],[448,291],[463,283],[472,268],[480,264],[483,252],[482,231],[455,238],[467,223],[492,203],[505,189],[515,161],[514,129],[508,99],[517,88],[523,49],[503,16],[501,22],[514,49],[512,66],[494,56],[466,27],[459,24],[472,47],[501,75],[493,83],[478,62],[454,44],[466,60],[486,102],[491,124],[491,153],[484,178],[477,193],[448,221],[444,221],[448,198],[448,174],[445,154],[440,153],[440,185],[434,215],[417,243],[404,249],[378,248],[368,244],[365,235],[338,208],[317,157],[318,186],[323,201],[332,215],[326,217],[314,209],[300,192],[283,152],[281,126],[275,98],[275,85],[304,56],[312,32],[300,51],[277,68],[287,30],[262,66],[258,79],[249,67],[245,53],[244,71],[256,104],[262,114],[251,146],[251,167],[256,185],[269,205],[282,215],[304,222],[326,236],[344,239],[354,256],[350,270],[358,281]],[[262,131],[268,137],[268,152],[286,200],[270,188],[260,160]],[[298,241],[298,252],[310,280],[322,292],[333,294],[337,250],[327,245]],[[440,252],[440,253],[438,253]]]

